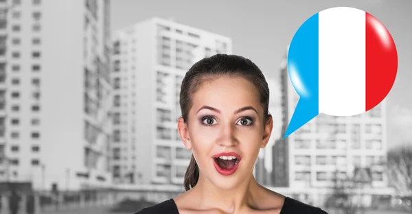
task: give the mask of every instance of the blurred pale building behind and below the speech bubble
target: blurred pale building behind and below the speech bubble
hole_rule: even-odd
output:
[[[306,202],[321,203],[334,187],[333,178],[353,178],[356,168],[367,169],[369,202],[389,195],[385,178],[387,110],[384,100],[375,108],[352,117],[321,114],[290,134],[288,123],[299,100],[288,77],[287,53],[281,64],[282,137],[273,146],[273,186],[299,194]]]

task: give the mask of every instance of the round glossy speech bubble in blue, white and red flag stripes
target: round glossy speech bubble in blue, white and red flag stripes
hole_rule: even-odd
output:
[[[395,82],[398,53],[378,19],[337,7],[314,14],[299,27],[287,64],[299,101],[284,139],[320,113],[352,116],[380,104]]]

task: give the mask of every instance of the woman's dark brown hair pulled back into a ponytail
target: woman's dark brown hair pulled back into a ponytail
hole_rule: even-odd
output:
[[[259,67],[251,60],[242,56],[216,54],[209,58],[204,58],[196,62],[187,71],[181,84],[180,106],[182,117],[185,123],[188,121],[189,111],[192,108],[192,95],[201,84],[208,80],[214,80],[220,76],[240,76],[253,83],[260,95],[260,103],[264,108],[264,121],[270,117],[268,115],[269,88],[266,79]],[[184,187],[185,190],[193,188],[198,182],[199,169],[192,154],[190,164],[187,167]]]

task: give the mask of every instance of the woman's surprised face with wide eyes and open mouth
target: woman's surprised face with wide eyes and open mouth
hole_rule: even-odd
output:
[[[216,78],[198,88],[192,104],[187,129],[179,123],[185,146],[206,179],[221,189],[238,186],[251,176],[272,130],[258,90],[244,78]]]

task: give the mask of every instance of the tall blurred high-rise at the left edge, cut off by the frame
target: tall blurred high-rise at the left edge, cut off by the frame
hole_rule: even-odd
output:
[[[0,1],[0,180],[111,183],[109,1]]]

